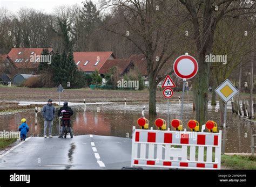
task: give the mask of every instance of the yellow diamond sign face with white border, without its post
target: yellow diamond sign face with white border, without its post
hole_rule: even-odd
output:
[[[215,89],[215,92],[222,100],[224,100],[225,103],[227,103],[228,100],[237,95],[238,90],[234,87],[230,80],[227,79],[221,83],[218,88]]]

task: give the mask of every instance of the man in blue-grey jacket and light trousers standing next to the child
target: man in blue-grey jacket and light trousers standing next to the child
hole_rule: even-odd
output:
[[[48,103],[43,107],[43,117],[44,117],[44,138],[47,137],[47,127],[49,126],[49,137],[52,138],[52,124],[55,114],[55,107],[52,105],[52,99],[48,99]]]

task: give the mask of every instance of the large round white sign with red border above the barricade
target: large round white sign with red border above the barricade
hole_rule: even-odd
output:
[[[181,55],[174,61],[173,70],[178,77],[190,79],[197,74],[197,60],[190,55]]]

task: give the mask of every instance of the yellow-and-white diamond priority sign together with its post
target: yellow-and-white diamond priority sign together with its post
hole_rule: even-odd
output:
[[[238,93],[238,89],[226,79],[223,83],[215,89],[215,93],[224,101],[225,110],[224,110],[224,124],[223,124],[223,146],[221,153],[225,153],[225,139],[226,139],[226,123],[227,123],[227,102],[231,100]]]

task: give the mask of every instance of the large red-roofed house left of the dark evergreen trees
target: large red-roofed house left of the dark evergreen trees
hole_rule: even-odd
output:
[[[8,53],[10,60],[14,63],[19,73],[35,74],[44,48],[12,48]],[[47,48],[51,53],[52,48]]]

